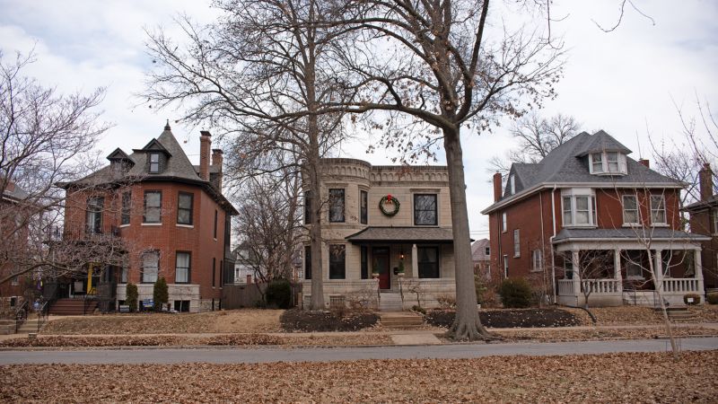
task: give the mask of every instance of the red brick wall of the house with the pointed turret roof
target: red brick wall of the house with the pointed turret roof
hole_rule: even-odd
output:
[[[199,284],[201,299],[221,297],[220,263],[224,254],[224,217],[226,212],[201,187],[171,183],[142,182],[126,189],[112,192],[93,192],[92,196],[105,197],[105,211],[102,215],[102,230],[109,232],[112,226],[120,224],[121,193],[131,189],[132,209],[130,224],[120,227],[120,235],[130,250],[128,281],[141,280],[141,254],[144,250],[160,251],[160,276],[168,284],[175,283],[175,259],[177,251],[191,253],[190,283]],[[162,191],[162,224],[143,224],[144,191]],[[177,224],[177,203],[179,192],[194,194],[192,222],[188,228]],[[104,195],[103,195],[104,194]],[[66,206],[66,233],[83,234],[85,222],[86,192],[68,192]],[[217,238],[214,238],[215,210]],[[215,258],[215,286],[212,285],[212,259]]]

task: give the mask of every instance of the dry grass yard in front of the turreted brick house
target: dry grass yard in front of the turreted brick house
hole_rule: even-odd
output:
[[[185,314],[109,314],[50,321],[43,334],[169,334],[278,332],[282,310],[228,310]]]

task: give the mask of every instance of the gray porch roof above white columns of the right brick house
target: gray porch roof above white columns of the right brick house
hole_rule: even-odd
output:
[[[686,233],[664,227],[626,227],[621,229],[562,229],[561,232],[556,234],[554,244],[572,241],[631,241],[639,239],[661,242],[704,242],[711,240],[710,237],[705,235]]]

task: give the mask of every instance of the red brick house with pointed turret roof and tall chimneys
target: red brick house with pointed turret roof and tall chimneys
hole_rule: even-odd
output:
[[[222,194],[221,150],[212,150],[210,163],[210,139],[201,132],[200,164],[194,166],[168,124],[132,154],[118,148],[108,166],[62,184],[64,236],[112,234],[125,243],[127,257],[121,267],[89,268],[88,277],[59,280],[55,297],[95,295],[109,300],[103,310],[113,310],[124,303],[127,282],[137,285],[142,301],[152,299],[153,283],[164,277],[175,310],[221,308],[222,286],[233,282],[230,219],[237,211]]]

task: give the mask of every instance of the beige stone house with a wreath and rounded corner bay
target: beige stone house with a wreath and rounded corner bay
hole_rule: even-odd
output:
[[[322,257],[328,305],[354,300],[390,311],[416,304],[416,291],[423,307],[436,306],[442,295],[454,297],[448,169],[322,162],[324,242],[318,252],[305,243],[304,303],[311,299],[312,253]],[[305,209],[305,223],[309,215]]]

